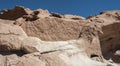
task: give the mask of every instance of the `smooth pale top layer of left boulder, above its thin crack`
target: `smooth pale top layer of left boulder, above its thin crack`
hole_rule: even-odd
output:
[[[21,27],[16,25],[7,25],[4,23],[0,23],[0,35],[18,35],[24,37],[27,36]]]

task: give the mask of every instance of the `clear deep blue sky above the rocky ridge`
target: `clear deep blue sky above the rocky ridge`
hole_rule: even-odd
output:
[[[120,10],[120,0],[0,0],[0,10],[21,5],[31,10],[38,8],[60,14],[87,17],[101,11]]]

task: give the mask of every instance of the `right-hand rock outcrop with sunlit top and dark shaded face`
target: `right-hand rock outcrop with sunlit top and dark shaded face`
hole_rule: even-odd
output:
[[[102,22],[103,34],[100,34],[101,49],[105,59],[114,59],[118,62],[114,54],[120,50],[120,11],[106,11],[100,15],[89,18],[91,21]],[[114,57],[114,58],[113,58]],[[115,60],[116,59],[116,60]]]

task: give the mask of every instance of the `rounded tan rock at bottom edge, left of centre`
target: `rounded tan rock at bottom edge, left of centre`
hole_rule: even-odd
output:
[[[34,56],[35,54],[27,54],[22,56],[18,61],[19,63],[16,66],[46,66],[43,61],[38,57]],[[39,54],[37,54],[39,56]]]

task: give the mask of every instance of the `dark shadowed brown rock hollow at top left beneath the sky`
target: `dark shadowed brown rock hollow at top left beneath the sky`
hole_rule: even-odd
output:
[[[27,15],[29,9],[25,9],[21,6],[16,6],[14,9],[6,9],[0,12],[0,18],[6,20],[16,20],[23,15]]]

